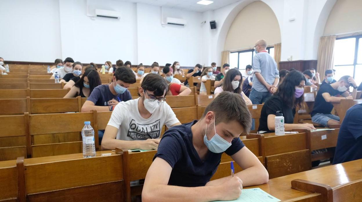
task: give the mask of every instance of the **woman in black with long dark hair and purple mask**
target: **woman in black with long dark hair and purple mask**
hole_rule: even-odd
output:
[[[281,111],[284,116],[285,130],[315,129],[313,124],[293,124],[295,108],[304,101],[306,77],[299,71],[291,71],[279,85],[278,90],[268,98],[261,109],[259,133],[272,133],[275,129],[275,114]]]

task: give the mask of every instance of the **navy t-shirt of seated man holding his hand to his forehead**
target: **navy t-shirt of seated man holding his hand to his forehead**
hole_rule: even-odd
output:
[[[322,96],[323,93],[329,93],[329,95],[331,96],[342,94],[340,91],[334,90],[333,87],[328,83],[322,83],[317,92],[311,116],[314,116],[316,113],[331,114],[331,111],[333,109],[333,104],[325,101],[325,99]]]

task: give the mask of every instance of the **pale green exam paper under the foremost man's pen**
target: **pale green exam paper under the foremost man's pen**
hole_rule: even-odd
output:
[[[264,192],[260,188],[243,189],[239,198],[232,202],[278,202],[279,199],[272,195]],[[221,202],[221,201],[214,201]]]

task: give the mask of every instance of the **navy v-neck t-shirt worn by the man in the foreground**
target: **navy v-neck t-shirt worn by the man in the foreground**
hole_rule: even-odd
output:
[[[197,120],[168,129],[160,141],[157,154],[153,157],[153,160],[156,157],[164,159],[172,167],[169,185],[205,186],[220,164],[223,153],[209,151],[204,161],[200,159],[192,143],[191,126],[195,123]],[[225,153],[231,156],[244,146],[240,138],[233,139]]]

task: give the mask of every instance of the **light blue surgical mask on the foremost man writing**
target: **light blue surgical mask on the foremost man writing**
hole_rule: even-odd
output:
[[[226,141],[224,138],[220,137],[216,133],[215,119],[214,119],[214,130],[215,130],[214,137],[212,137],[210,140],[207,140],[207,136],[206,136],[207,124],[206,124],[204,143],[205,143],[207,149],[209,149],[211,152],[222,153],[231,146],[231,143],[229,143],[228,141]]]

